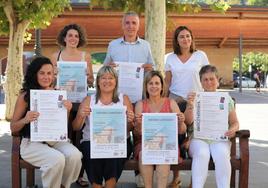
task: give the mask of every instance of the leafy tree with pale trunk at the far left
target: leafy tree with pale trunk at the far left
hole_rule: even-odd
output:
[[[0,0],[0,35],[9,34],[4,85],[7,120],[12,118],[23,82],[23,39],[27,29],[48,26],[65,7],[69,7],[69,0]]]

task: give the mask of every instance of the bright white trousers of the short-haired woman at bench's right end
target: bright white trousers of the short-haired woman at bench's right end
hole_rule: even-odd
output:
[[[208,163],[210,155],[215,164],[215,176],[218,188],[230,187],[231,163],[230,163],[231,142],[207,143],[200,139],[192,139],[189,153],[192,162],[192,187],[203,188],[208,174]]]

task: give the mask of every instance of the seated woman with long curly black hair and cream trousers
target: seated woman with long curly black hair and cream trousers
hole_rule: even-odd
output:
[[[21,157],[42,171],[43,187],[59,188],[70,187],[77,179],[82,154],[69,142],[55,142],[48,145],[45,142],[30,141],[30,122],[37,120],[39,113],[30,111],[30,90],[54,90],[53,65],[46,57],[35,58],[28,66],[21,93],[17,99],[14,115],[10,124],[12,132],[20,132]],[[72,103],[63,100],[68,113]]]

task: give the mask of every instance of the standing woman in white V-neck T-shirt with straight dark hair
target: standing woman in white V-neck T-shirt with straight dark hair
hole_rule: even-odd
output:
[[[173,53],[166,57],[165,81],[168,96],[178,103],[182,112],[188,113],[187,108],[191,108],[186,104],[187,99],[193,97],[192,92],[202,91],[198,73],[207,64],[209,61],[205,52],[195,49],[192,31],[186,26],[179,26],[173,35]],[[180,145],[184,139],[185,135],[179,136]],[[171,185],[177,187],[181,183],[179,172],[173,172]]]

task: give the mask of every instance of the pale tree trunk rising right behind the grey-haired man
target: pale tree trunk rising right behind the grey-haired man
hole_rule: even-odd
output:
[[[166,1],[145,0],[145,38],[151,44],[156,69],[164,71]]]

